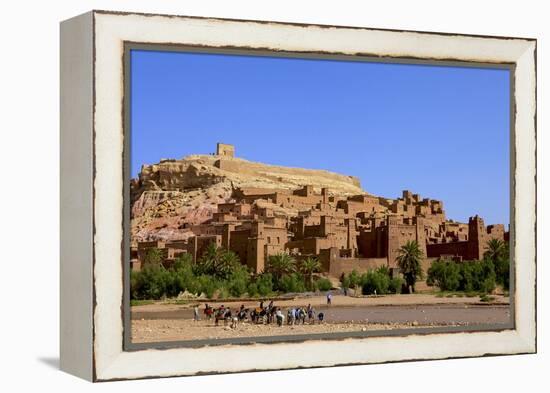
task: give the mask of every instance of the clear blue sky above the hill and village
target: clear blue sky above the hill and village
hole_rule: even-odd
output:
[[[509,222],[508,70],[136,50],[131,66],[132,177],[219,141]]]

